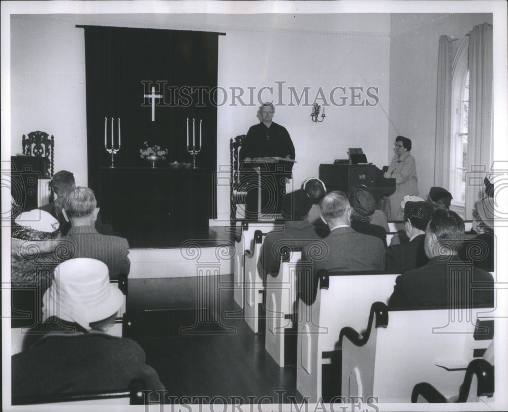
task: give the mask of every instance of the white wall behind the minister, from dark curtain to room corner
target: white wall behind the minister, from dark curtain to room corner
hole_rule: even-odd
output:
[[[246,50],[249,50],[246,52]],[[383,165],[387,157],[389,92],[389,38],[387,36],[284,35],[275,33],[232,33],[219,40],[219,81],[230,87],[273,87],[275,115],[273,121],[286,127],[296,150],[293,185],[299,188],[308,177],[319,174],[320,163],[347,158],[347,149],[363,147],[369,161]],[[282,97],[277,81],[282,84]],[[346,87],[346,105],[332,105],[329,94],[336,86]],[[379,104],[352,107],[348,87],[378,88]],[[294,87],[300,95],[309,87],[308,105],[289,106]],[[322,123],[313,123],[311,105],[319,91],[325,93],[330,106]],[[247,92],[247,90],[246,90]],[[334,94],[341,104],[341,90]],[[271,96],[266,91],[263,96]],[[367,95],[362,94],[362,100]],[[248,97],[245,99],[248,101]],[[370,102],[374,99],[370,98]],[[295,104],[295,101],[293,101]],[[358,103],[357,100],[354,101]],[[282,103],[283,105],[278,105]],[[322,105],[320,100],[318,104]],[[218,167],[229,177],[229,140],[245,134],[259,122],[256,106],[218,108]],[[220,187],[218,220],[229,220],[229,188]]]

